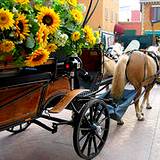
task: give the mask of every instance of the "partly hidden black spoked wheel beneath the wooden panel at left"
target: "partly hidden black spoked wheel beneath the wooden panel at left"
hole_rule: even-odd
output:
[[[12,126],[7,129],[7,131],[12,132],[12,133],[19,133],[24,130],[26,130],[30,126],[31,122],[24,122],[16,126]]]

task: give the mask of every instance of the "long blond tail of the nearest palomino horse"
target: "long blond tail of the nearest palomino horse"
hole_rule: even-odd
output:
[[[112,80],[111,94],[115,100],[119,100],[124,91],[126,85],[126,66],[128,62],[128,56],[122,55],[115,67],[115,72]]]

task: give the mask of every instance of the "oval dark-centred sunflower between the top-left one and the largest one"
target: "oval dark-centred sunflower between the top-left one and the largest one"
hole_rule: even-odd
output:
[[[24,14],[18,14],[18,17],[16,18],[15,22],[16,37],[19,37],[20,40],[25,40],[27,36],[29,36],[29,25],[28,20],[26,19],[26,16]]]

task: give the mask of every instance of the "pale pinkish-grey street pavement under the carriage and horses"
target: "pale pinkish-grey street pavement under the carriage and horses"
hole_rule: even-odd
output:
[[[95,160],[160,160],[160,86],[155,85],[150,100],[153,108],[144,108],[144,121],[137,121],[133,105],[123,117],[123,126],[111,120],[108,139]],[[63,111],[59,116],[69,115]],[[15,135],[3,131],[0,160],[81,160],[74,151],[72,134],[70,126],[51,134],[34,124]]]

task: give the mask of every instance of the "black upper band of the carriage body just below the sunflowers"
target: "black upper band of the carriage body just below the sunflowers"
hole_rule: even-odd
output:
[[[52,78],[51,72],[24,74],[24,73],[6,73],[5,76],[0,74],[0,88],[15,85],[24,85],[29,83],[46,82]]]

